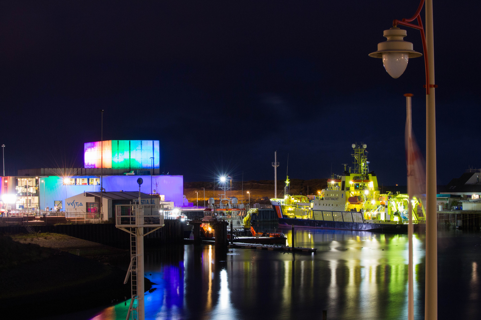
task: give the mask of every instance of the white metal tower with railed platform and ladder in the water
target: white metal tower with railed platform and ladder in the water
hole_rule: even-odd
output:
[[[144,236],[164,226],[164,205],[142,204],[140,200],[132,204],[118,204],[115,206],[115,227],[130,234],[130,265],[125,276],[124,284],[131,276],[132,300],[128,308],[127,318],[144,320]],[[146,210],[148,209],[148,210]],[[147,230],[144,230],[147,228]],[[146,231],[144,233],[144,231]]]

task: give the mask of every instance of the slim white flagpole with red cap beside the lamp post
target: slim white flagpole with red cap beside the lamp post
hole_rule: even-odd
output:
[[[414,274],[413,274],[413,143],[412,143],[412,118],[411,118],[411,97],[412,94],[405,94],[406,97],[406,146],[407,146],[407,193],[408,198],[408,217],[407,238],[409,243],[409,261],[407,276],[407,319],[414,320]]]

